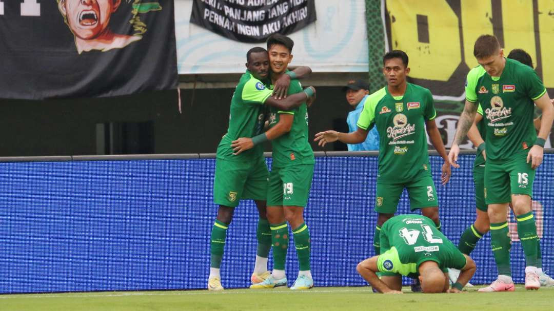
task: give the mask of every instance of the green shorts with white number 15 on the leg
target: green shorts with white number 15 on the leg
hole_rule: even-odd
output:
[[[533,195],[535,170],[527,163],[527,156],[502,163],[485,165],[485,201],[486,204],[509,203],[512,194]]]

